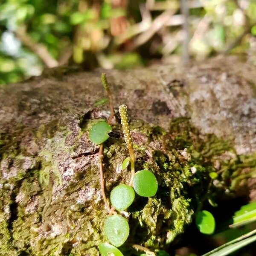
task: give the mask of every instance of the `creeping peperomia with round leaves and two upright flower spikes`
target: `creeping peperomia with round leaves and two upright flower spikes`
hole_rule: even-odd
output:
[[[112,131],[111,122],[115,115],[113,109],[113,99],[109,88],[108,81],[105,74],[102,74],[102,84],[105,87],[108,94],[108,102],[111,109],[111,115],[107,122],[97,122],[89,131],[90,140],[99,145],[99,171],[100,171],[100,183],[102,198],[105,203],[105,207],[108,210],[109,216],[105,220],[104,233],[108,238],[109,243],[100,243],[99,251],[103,256],[120,256],[122,253],[116,247],[125,243],[129,236],[129,224],[127,217],[122,216],[122,213],[117,213],[126,210],[134,201],[135,192],[143,197],[154,196],[157,192],[157,178],[148,170],[141,170],[135,172],[135,154],[131,138],[131,129],[128,121],[127,107],[126,105],[119,106],[119,114],[121,116],[122,130],[124,133],[124,139],[129,151],[129,157],[125,158],[122,163],[122,169],[126,169],[130,163],[131,165],[131,178],[128,184],[119,184],[111,191],[110,201],[112,207],[108,203],[108,199],[105,195],[105,181],[103,176],[103,143],[109,138],[108,133]],[[135,192],[134,192],[135,191]],[[116,211],[115,211],[116,210]],[[134,248],[143,248],[140,245],[133,245]],[[148,249],[145,248],[148,252]],[[151,255],[155,255],[153,252]]]

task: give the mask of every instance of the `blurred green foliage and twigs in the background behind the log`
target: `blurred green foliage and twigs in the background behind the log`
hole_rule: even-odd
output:
[[[226,50],[256,62],[255,0],[188,3],[192,58]],[[90,69],[168,61],[182,52],[180,14],[179,0],[0,0],[0,84],[68,62]]]

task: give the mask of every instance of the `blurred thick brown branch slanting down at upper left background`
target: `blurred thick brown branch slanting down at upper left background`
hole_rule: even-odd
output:
[[[39,58],[44,62],[44,64],[51,68],[57,67],[58,61],[49,54],[47,48],[43,44],[36,43],[26,32],[26,28],[19,27],[15,32],[15,35],[20,39],[21,43],[28,47],[32,52],[38,55]]]

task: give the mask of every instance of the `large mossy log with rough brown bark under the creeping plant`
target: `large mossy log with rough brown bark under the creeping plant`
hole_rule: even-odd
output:
[[[99,255],[107,212],[87,130],[109,115],[107,105],[93,107],[105,97],[101,73],[58,68],[0,88],[0,256]],[[256,67],[230,57],[107,77],[116,107],[130,111],[136,170],[150,169],[159,183],[126,213],[125,255],[130,243],[168,248],[204,202],[256,198]],[[130,178],[118,114],[104,148],[109,196]]]

